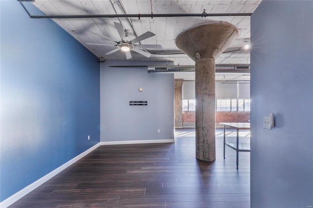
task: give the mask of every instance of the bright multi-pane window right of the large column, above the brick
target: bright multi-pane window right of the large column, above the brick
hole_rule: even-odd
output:
[[[216,111],[250,111],[250,99],[217,99]]]

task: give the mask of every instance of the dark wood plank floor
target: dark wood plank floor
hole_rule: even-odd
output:
[[[10,208],[249,208],[250,154],[237,170],[222,136],[210,163],[195,158],[192,128],[170,144],[100,146]]]

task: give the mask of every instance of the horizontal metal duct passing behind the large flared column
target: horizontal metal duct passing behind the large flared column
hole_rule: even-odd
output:
[[[194,65],[148,66],[148,74],[195,72]],[[216,73],[250,73],[250,64],[216,64]]]

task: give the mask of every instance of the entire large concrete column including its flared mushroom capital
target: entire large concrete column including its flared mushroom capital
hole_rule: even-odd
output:
[[[214,161],[215,59],[238,36],[229,23],[193,27],[176,39],[177,47],[196,62],[196,158]]]

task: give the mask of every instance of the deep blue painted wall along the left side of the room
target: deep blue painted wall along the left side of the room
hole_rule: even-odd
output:
[[[0,4],[3,201],[100,141],[100,72],[55,22]]]

